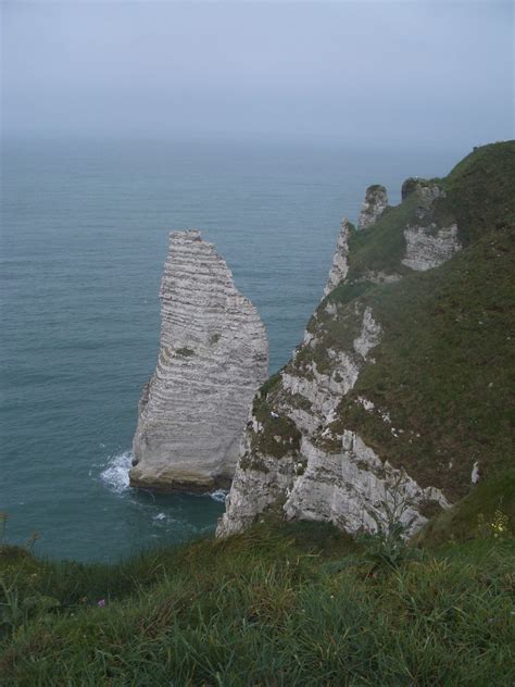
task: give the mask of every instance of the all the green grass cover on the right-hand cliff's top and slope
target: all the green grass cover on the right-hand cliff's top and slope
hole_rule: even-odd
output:
[[[435,185],[447,195],[428,204],[424,189]],[[334,427],[354,429],[382,460],[456,500],[475,464],[482,477],[515,464],[515,141],[478,148],[449,176],[412,186],[400,205],[352,234],[349,278],[321,303],[309,324],[317,342],[298,360],[329,369],[327,351],[352,348],[359,313],[372,307],[381,344]],[[464,248],[413,272],[401,263],[403,232],[424,203],[437,225],[457,223]],[[403,278],[378,286],[367,271]]]

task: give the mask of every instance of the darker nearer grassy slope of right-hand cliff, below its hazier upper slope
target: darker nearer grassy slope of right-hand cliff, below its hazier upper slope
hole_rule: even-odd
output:
[[[453,500],[468,490],[476,462],[482,476],[513,465],[513,274],[515,226],[438,268],[374,289],[368,302],[382,341],[339,408],[342,424],[382,459]]]

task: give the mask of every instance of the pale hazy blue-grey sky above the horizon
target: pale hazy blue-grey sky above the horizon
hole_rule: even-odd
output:
[[[2,3],[2,134],[514,137],[504,0]]]

